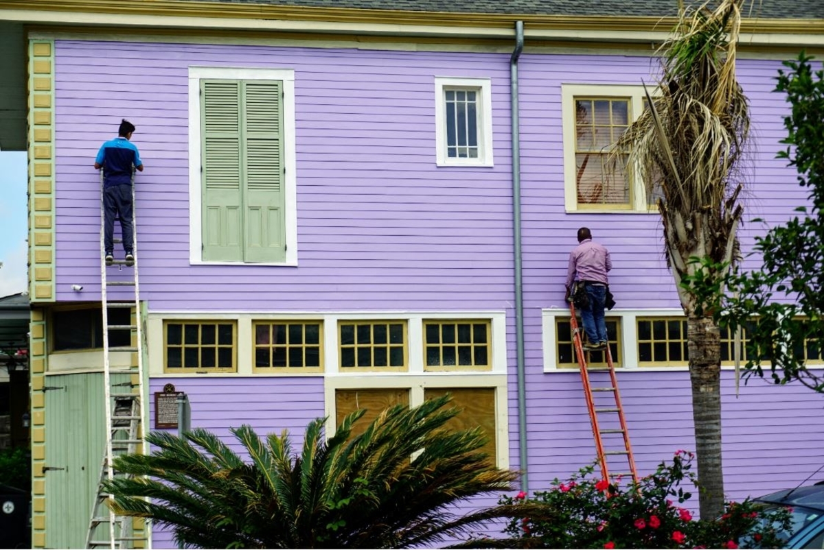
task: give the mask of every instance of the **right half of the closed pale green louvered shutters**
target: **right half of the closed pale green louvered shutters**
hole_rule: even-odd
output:
[[[283,82],[243,82],[246,262],[283,262]]]

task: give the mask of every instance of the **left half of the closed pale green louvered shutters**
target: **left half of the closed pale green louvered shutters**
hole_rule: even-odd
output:
[[[203,259],[240,262],[243,197],[241,184],[241,84],[200,83],[203,131]]]

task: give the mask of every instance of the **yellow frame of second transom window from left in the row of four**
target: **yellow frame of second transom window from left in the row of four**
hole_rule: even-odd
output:
[[[307,342],[307,326],[317,325],[317,342]],[[283,326],[285,339],[283,343],[275,342],[275,327]],[[293,343],[293,328],[300,327],[300,342]],[[260,329],[268,329],[266,331],[265,342],[261,342],[262,332]],[[317,365],[307,366],[307,353],[312,349],[317,350]],[[276,352],[283,352],[285,365],[276,366]],[[268,357],[269,365],[261,366],[259,362]],[[289,363],[296,359],[295,362],[300,362],[300,365],[290,365]],[[299,359],[299,361],[297,361]],[[255,320],[252,321],[252,372],[265,374],[286,374],[286,375],[300,375],[303,373],[323,372],[323,320],[321,319],[301,319],[301,320]]]

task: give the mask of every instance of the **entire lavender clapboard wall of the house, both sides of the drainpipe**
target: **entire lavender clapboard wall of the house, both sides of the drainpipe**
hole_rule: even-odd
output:
[[[105,56],[101,56],[105,50]],[[99,296],[99,211],[91,161],[121,117],[138,126],[141,290],[150,310],[505,310],[508,316],[511,464],[518,467],[514,374],[508,54],[391,52],[209,44],[63,41],[56,44],[57,289],[59,301]],[[297,124],[297,268],[190,266],[187,68],[294,68]],[[770,93],[780,63],[742,60],[755,120],[747,217],[783,221],[803,203],[775,161],[783,98]],[[527,417],[531,489],[594,455],[577,373],[544,373],[541,309],[562,306],[578,226],[610,247],[620,307],[677,308],[654,214],[567,214],[560,85],[650,82],[648,58],[524,54],[520,62]],[[494,168],[435,166],[434,77],[491,77]],[[760,228],[747,225],[745,248]],[[761,382],[734,397],[724,373],[724,453],[729,496],[800,482],[824,451],[820,398]],[[195,419],[216,430],[250,419],[305,426],[321,416],[320,378],[176,379],[198,396]],[[152,391],[165,379],[152,380]],[[219,385],[219,387],[218,387]],[[232,391],[260,399],[224,400]],[[692,449],[690,385],[683,370],[622,371],[620,385],[642,473]],[[280,393],[279,393],[280,392]],[[305,410],[304,410],[305,409]],[[297,413],[297,416],[290,416]],[[781,464],[776,472],[774,464]]]

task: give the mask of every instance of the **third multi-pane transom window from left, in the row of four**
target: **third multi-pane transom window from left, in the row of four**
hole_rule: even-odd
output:
[[[340,321],[341,371],[405,371],[406,321]]]

